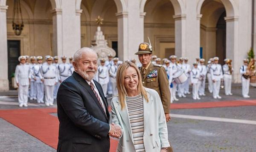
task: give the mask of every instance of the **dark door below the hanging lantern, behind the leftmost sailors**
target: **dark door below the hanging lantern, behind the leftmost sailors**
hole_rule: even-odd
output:
[[[20,56],[20,41],[8,40],[8,79],[9,88],[12,90],[12,76],[14,76],[15,68],[20,63],[18,57]]]

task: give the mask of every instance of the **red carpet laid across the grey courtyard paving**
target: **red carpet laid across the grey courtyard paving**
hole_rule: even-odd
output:
[[[213,107],[236,107],[236,106],[256,106],[256,100],[241,101],[215,101],[196,103],[175,103],[170,109],[194,109]],[[111,108],[109,107],[109,110]],[[57,148],[58,144],[58,118],[49,113],[57,113],[57,109],[15,109],[0,110],[0,118],[38,138],[45,144]],[[111,139],[110,152],[116,151],[118,141]]]

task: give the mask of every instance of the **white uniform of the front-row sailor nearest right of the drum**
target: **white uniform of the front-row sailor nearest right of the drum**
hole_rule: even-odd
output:
[[[191,72],[190,72],[190,79],[191,79],[191,83],[193,84],[192,87],[192,94],[193,94],[193,99],[200,99],[199,95],[198,95],[198,89],[199,89],[199,84],[200,84],[200,70],[198,68],[192,68]]]

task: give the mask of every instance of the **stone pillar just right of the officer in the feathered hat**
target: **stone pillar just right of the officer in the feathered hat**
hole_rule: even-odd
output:
[[[174,15],[175,20],[175,55],[186,53],[186,14]]]

